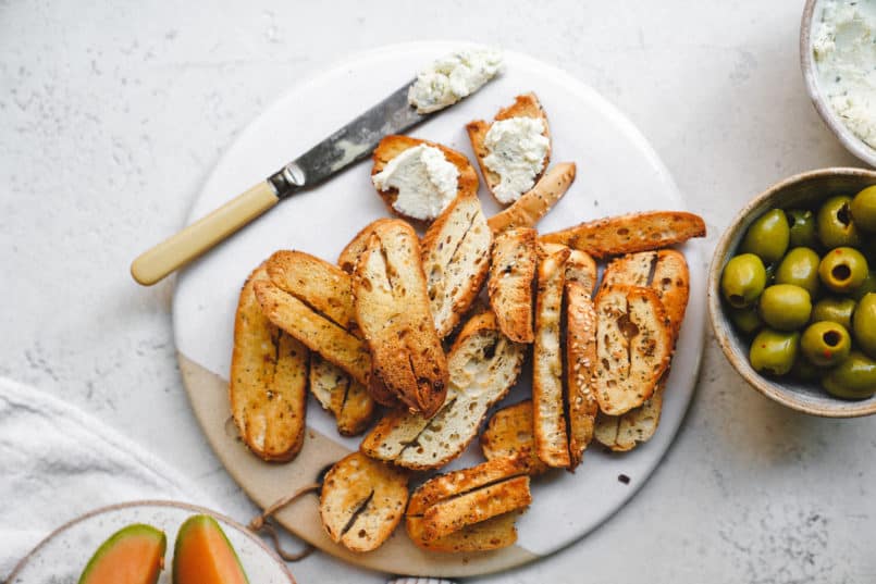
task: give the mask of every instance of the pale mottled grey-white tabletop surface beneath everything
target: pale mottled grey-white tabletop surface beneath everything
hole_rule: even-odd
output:
[[[529,0],[499,11],[0,0],[0,375],[96,412],[245,520],[181,385],[173,281],[139,288],[127,268],[180,227],[217,158],[276,91],[394,40],[529,52],[631,117],[714,241],[773,182],[858,164],[804,95],[801,11],[789,0]],[[579,544],[490,581],[873,582],[875,452],[876,419],[784,410],[749,389],[710,337],[687,422],[643,492]],[[294,571],[303,583],[383,581],[322,555]]]

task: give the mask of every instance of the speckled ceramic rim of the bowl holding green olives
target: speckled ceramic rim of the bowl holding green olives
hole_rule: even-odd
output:
[[[718,341],[721,350],[724,351],[727,360],[733,365],[733,369],[744,378],[749,385],[757,389],[760,393],[769,399],[787,406],[797,411],[819,415],[823,418],[858,418],[861,415],[872,415],[876,413],[876,401],[846,401],[837,399],[837,407],[817,407],[812,403],[804,403],[797,399],[793,392],[782,387],[780,384],[773,383],[769,380],[758,375],[749,364],[748,360],[739,359],[733,352],[730,341],[730,332],[727,330],[725,322],[721,321],[723,307],[720,301],[720,273],[724,270],[725,257],[728,256],[730,247],[737,238],[740,227],[744,220],[750,215],[763,201],[776,196],[784,191],[791,185],[804,183],[813,178],[823,176],[864,176],[867,178],[876,179],[876,171],[866,169],[847,169],[834,167],[822,169],[817,171],[804,172],[797,174],[780,183],[777,183],[754,197],[749,201],[745,207],[733,218],[730,225],[724,232],[718,245],[715,247],[715,252],[712,256],[712,264],[708,268],[708,320],[712,323],[712,331],[715,333],[715,338]]]

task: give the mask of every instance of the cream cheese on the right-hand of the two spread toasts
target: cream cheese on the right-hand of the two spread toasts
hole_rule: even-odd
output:
[[[493,122],[483,144],[490,152],[483,163],[499,176],[493,195],[507,204],[535,185],[551,140],[544,136],[544,122],[519,116]]]

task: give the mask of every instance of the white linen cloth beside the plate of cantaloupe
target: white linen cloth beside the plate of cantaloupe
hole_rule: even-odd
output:
[[[137,499],[214,508],[174,469],[102,422],[0,377],[0,581],[61,524]]]

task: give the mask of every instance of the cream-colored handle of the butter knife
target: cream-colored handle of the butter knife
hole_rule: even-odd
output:
[[[259,183],[143,253],[131,264],[131,275],[144,286],[151,286],[211,249],[279,201],[271,183]]]

